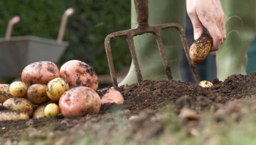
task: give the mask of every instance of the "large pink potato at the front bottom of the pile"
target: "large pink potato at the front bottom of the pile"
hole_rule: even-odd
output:
[[[90,87],[78,86],[65,91],[58,102],[64,117],[82,117],[100,112],[100,96]]]

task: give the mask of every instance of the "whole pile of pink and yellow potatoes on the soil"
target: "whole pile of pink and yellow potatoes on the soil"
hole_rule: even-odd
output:
[[[21,81],[0,84],[0,121],[43,117],[82,117],[95,114],[106,103],[123,104],[114,88],[97,90],[95,70],[80,60],[60,69],[48,61],[27,65]]]

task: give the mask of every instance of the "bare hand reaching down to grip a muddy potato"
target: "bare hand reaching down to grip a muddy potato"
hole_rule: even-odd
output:
[[[186,0],[186,9],[193,24],[195,40],[205,27],[213,38],[212,51],[218,50],[226,38],[225,18],[220,0]]]

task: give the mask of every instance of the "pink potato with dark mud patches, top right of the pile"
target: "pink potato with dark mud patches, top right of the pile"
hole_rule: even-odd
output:
[[[95,70],[80,60],[70,60],[60,67],[60,77],[68,80],[70,86],[82,85],[97,90],[98,79]]]

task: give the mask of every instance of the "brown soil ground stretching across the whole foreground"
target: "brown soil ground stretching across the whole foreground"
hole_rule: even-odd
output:
[[[212,144],[219,144],[223,141],[222,136],[228,136],[230,129],[240,131],[240,128],[235,127],[240,127],[241,122],[250,122],[252,127],[250,128],[250,123],[247,126],[255,129],[253,121],[256,117],[253,112],[256,110],[256,73],[232,75],[223,82],[215,79],[213,87],[209,88],[177,80],[144,80],[121,86],[118,90],[124,95],[124,104],[102,105],[99,114],[71,119],[55,117],[1,122],[0,142],[186,144],[191,141],[191,144],[206,144],[211,141]],[[194,113],[187,118],[181,117],[179,114],[183,108]],[[250,117],[254,118],[248,119]],[[220,130],[208,130],[213,128]],[[247,131],[243,133],[246,134]],[[198,136],[202,133],[203,135]],[[234,136],[237,135],[239,136]],[[233,139],[234,136],[231,134],[226,139]],[[228,141],[224,139],[229,144]]]

